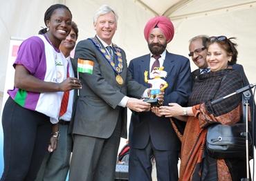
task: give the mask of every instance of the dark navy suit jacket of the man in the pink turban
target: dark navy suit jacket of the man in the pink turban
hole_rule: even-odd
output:
[[[149,71],[150,55],[144,55],[131,60],[129,70],[133,78],[149,87],[144,81],[145,70]],[[172,53],[166,53],[163,63],[167,71],[165,81],[169,86],[165,89],[164,104],[176,102],[185,106],[191,92],[190,61]],[[136,149],[143,149],[147,145],[149,136],[158,150],[179,150],[180,142],[170,124],[170,119],[157,117],[152,112],[132,113],[131,115],[131,146]]]

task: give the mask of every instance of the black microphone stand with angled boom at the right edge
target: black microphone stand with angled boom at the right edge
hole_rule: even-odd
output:
[[[250,175],[249,175],[249,144],[248,144],[248,106],[249,106],[249,99],[251,97],[250,89],[256,86],[256,84],[250,84],[248,86],[244,86],[243,88],[240,88],[236,90],[234,93],[231,93],[229,95],[226,95],[224,97],[221,97],[219,99],[213,100],[211,103],[217,104],[218,102],[221,102],[223,99],[226,99],[228,97],[231,97],[232,95],[236,95],[239,93],[243,93],[244,95],[244,102],[243,104],[246,105],[246,178],[241,178],[241,181],[249,181]],[[244,107],[244,106],[243,106]]]

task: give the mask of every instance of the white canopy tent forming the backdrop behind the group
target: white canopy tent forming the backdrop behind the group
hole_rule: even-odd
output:
[[[6,80],[10,39],[36,35],[44,25],[44,12],[54,3],[64,3],[79,28],[78,40],[95,35],[93,15],[107,4],[118,12],[118,30],[113,42],[127,53],[127,59],[149,53],[144,39],[145,23],[156,15],[170,17],[174,39],[167,50],[188,57],[188,41],[196,35],[237,37],[238,64],[250,83],[256,83],[256,1],[253,0],[0,0],[0,107]],[[12,64],[9,62],[9,64]],[[196,68],[191,64],[192,70]]]

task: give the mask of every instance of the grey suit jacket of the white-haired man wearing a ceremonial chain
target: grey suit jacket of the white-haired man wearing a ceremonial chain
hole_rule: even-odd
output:
[[[89,39],[78,42],[75,48],[75,61],[78,58],[93,61],[93,74],[80,73],[82,82],[77,99],[73,133],[92,137],[108,138],[113,133],[118,116],[122,117],[122,137],[127,137],[127,108],[118,106],[121,99],[130,92],[140,97],[145,86],[131,80],[127,72],[127,60],[122,50],[124,84],[116,82],[116,74],[111,65]]]

